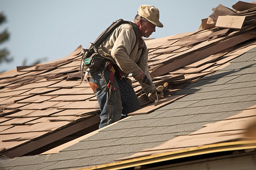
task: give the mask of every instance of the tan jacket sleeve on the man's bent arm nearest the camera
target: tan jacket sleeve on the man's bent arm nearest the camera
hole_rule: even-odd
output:
[[[122,29],[116,29],[115,31],[116,39],[111,50],[111,56],[123,73],[139,74],[140,67],[129,57],[136,41],[133,29],[130,27],[122,27]]]

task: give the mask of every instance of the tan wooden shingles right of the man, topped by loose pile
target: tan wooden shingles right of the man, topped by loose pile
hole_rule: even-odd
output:
[[[256,46],[256,3],[240,1],[233,8],[222,5],[213,8],[213,14],[202,20],[196,32],[146,40],[148,67],[154,83],[156,86],[164,82],[170,84],[165,93],[170,100],[162,99],[160,103],[179,99],[182,96],[173,95],[175,91],[229,65],[230,61]],[[141,104],[147,105],[139,83],[133,82]],[[156,108],[151,104],[130,115],[148,113]]]

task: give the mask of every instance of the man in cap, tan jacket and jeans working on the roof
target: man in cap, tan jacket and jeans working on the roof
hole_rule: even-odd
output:
[[[127,78],[130,73],[141,84],[151,102],[163,96],[163,92],[156,92],[150,78],[147,68],[148,50],[142,39],[155,32],[155,27],[163,27],[159,21],[158,8],[140,6],[133,22],[136,24],[135,29],[138,29],[138,40],[131,24],[121,24],[115,28],[98,48],[98,53],[110,62],[104,62],[97,72],[90,70],[87,76],[101,109],[99,128],[141,108],[131,80]],[[143,83],[145,79],[149,83]]]

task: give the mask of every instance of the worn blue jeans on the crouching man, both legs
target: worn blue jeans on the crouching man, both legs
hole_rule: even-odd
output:
[[[92,78],[88,78],[101,109],[99,128],[112,124],[126,117],[128,113],[141,108],[138,97],[126,78],[118,79],[117,76],[114,76],[113,87],[115,90],[112,88],[109,95],[109,70],[106,68],[103,74],[102,70],[104,70],[104,66],[98,72],[90,70]]]

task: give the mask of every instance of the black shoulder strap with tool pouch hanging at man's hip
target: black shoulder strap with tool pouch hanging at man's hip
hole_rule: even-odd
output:
[[[133,22],[123,19],[116,20],[108,28],[106,28],[105,31],[103,31],[93,43],[90,42],[86,49],[82,49],[82,59],[80,63],[81,83],[82,80],[84,80],[84,70],[89,68],[90,70],[98,71],[102,66],[102,63],[106,61],[106,59],[98,53],[98,47],[106,40],[106,38],[114,31],[114,29],[119,27],[121,24],[130,24],[133,27],[136,35],[136,42],[133,47],[134,50],[139,37],[137,25]]]

